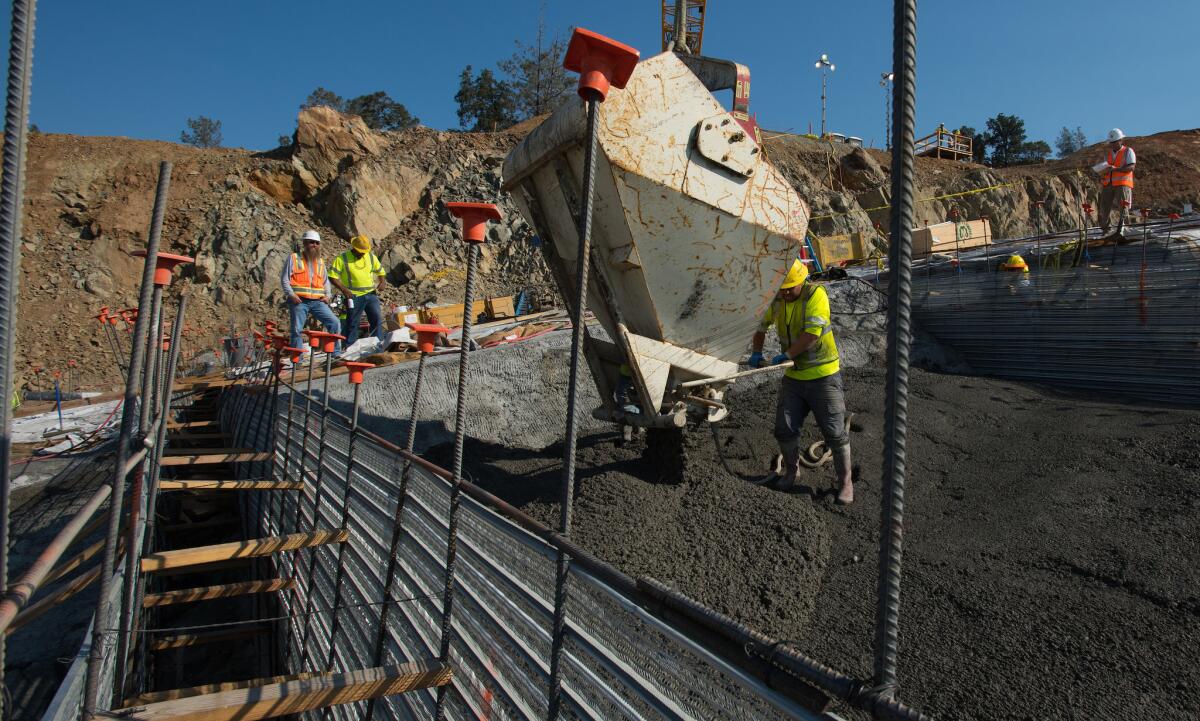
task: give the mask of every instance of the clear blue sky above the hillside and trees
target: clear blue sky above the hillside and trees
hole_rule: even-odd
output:
[[[7,4],[6,4],[7,6]],[[272,148],[318,85],[385,90],[422,124],[457,127],[463,66],[493,66],[534,38],[539,0],[46,0],[31,120],[44,132],[178,140],[185,120],[222,121],[226,145]],[[581,25],[656,54],[660,0],[546,0],[547,28]],[[10,12],[5,12],[7,18]],[[991,17],[995,14],[995,17]],[[820,126],[883,144],[882,71],[892,4],[709,0],[704,54],[751,71],[751,112],[770,130]],[[7,23],[4,42],[7,46]],[[1111,49],[1105,49],[1105,46]],[[5,54],[7,58],[7,53]],[[1099,139],[1200,126],[1200,2],[922,0],[918,136],[977,128],[996,113],[1031,139]]]

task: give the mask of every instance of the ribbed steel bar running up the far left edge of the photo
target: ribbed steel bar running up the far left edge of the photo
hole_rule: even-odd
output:
[[[8,513],[12,493],[12,377],[17,342],[17,287],[20,277],[22,216],[25,202],[25,136],[29,130],[30,78],[34,66],[36,0],[13,0],[8,36],[4,156],[0,168],[0,588],[8,582]],[[0,689],[4,689],[5,638],[0,635]],[[0,713],[8,716],[6,699]]]

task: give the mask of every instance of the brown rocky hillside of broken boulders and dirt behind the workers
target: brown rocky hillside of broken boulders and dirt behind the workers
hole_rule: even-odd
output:
[[[83,383],[116,387],[108,344],[94,319],[103,305],[137,302],[157,164],[174,163],[163,250],[193,256],[194,266],[170,289],[188,290],[188,323],[212,346],[230,325],[283,319],[278,275],[306,228],[326,239],[326,257],[354,234],[376,241],[389,271],[388,304],[454,302],[461,296],[464,247],[444,200],[487,200],[505,220],[484,247],[481,293],[499,295],[548,283],[529,242],[532,230],[499,192],[508,151],[533,124],[500,133],[418,127],[379,133],[356,116],[328,108],[300,113],[290,146],[270,152],[198,150],[126,138],[38,134],[31,138],[20,286],[18,378],[30,363],[55,369],[74,359]],[[769,136],[769,133],[768,133]],[[1200,205],[1200,131],[1134,138],[1139,205],[1177,210]],[[888,157],[793,136],[767,140],[767,156],[810,200],[817,235],[887,227]],[[920,223],[946,220],[953,203],[964,217],[991,217],[997,236],[1075,227],[1079,202],[1094,199],[1076,157],[994,170],[919,158],[918,198],[1001,185],[985,193],[918,204]],[[1036,210],[1033,200],[1044,199]],[[44,377],[43,377],[44,378]],[[44,385],[44,380],[43,380]]]

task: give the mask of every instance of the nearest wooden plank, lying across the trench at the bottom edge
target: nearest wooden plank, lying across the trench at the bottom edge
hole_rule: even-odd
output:
[[[97,715],[125,721],[258,721],[444,686],[452,677],[454,672],[448,663],[426,659],[402,666],[326,673],[280,684],[98,711]]]

